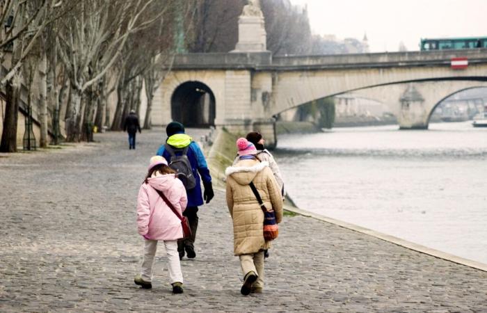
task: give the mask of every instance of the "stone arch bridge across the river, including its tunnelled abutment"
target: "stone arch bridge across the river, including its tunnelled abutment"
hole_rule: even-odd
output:
[[[458,57],[467,58],[468,66],[454,69],[452,58]],[[279,113],[374,88],[395,104],[390,109],[401,129],[427,129],[442,99],[486,86],[487,49],[277,57],[267,51],[181,54],[154,97],[152,124],[180,120],[231,131],[257,129],[272,145]]]

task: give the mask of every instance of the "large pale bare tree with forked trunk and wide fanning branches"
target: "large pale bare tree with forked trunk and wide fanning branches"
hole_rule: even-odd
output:
[[[129,34],[153,22],[140,19],[153,1],[80,1],[74,14],[63,23],[58,51],[72,87],[67,141],[79,141],[83,92],[104,77],[120,56]]]

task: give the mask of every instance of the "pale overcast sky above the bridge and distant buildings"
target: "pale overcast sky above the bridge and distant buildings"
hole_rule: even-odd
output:
[[[313,33],[369,38],[372,52],[418,50],[420,38],[487,36],[487,0],[291,0]]]

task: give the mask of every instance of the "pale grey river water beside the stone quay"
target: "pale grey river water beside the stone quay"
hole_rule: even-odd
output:
[[[273,154],[301,209],[487,264],[487,129],[337,128]]]

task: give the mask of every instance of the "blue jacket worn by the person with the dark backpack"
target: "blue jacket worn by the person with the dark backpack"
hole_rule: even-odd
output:
[[[170,138],[166,141],[168,144],[171,143]],[[198,146],[197,143],[194,141],[191,141],[191,143],[186,144],[186,145],[178,145],[177,149],[181,149],[182,147],[186,147],[189,145],[188,153],[186,154],[189,163],[191,163],[191,168],[193,170],[193,175],[196,179],[196,186],[195,188],[191,190],[186,190],[186,193],[188,195],[188,207],[198,207],[203,204],[203,197],[201,195],[201,183],[200,183],[200,175],[203,183],[208,183],[211,182],[211,176],[209,175],[209,169],[207,166],[207,161],[205,159],[205,156],[203,155],[203,152],[201,151],[200,147]],[[171,145],[173,146],[173,145]],[[177,155],[180,155],[181,152],[177,152]],[[168,163],[170,162],[170,153],[166,150],[164,145],[161,145],[159,147],[159,150],[157,150],[157,155],[160,155]],[[199,174],[198,174],[199,173]]]

